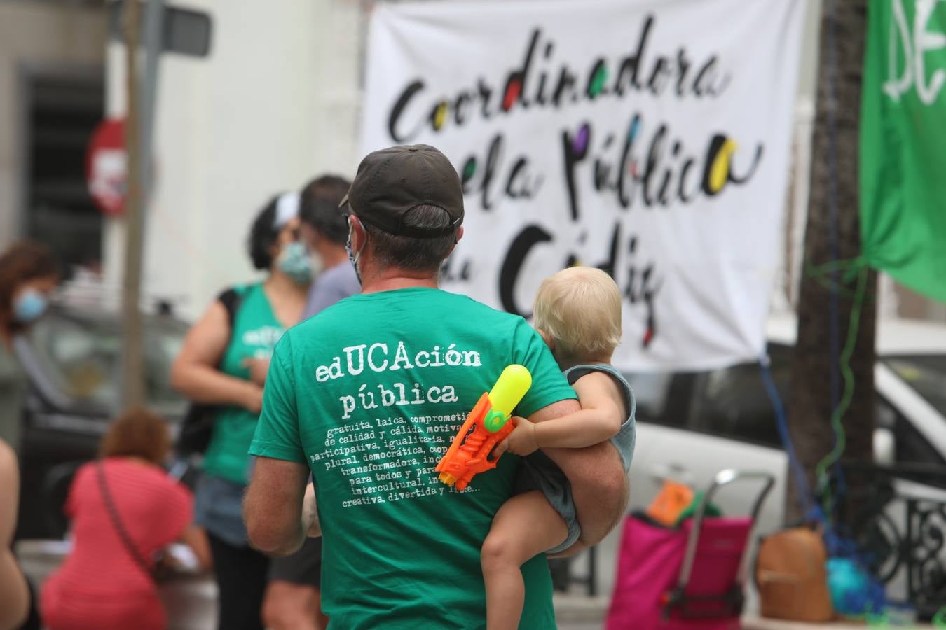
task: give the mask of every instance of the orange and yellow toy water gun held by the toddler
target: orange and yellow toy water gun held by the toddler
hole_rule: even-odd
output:
[[[490,461],[489,453],[513,432],[515,426],[509,417],[531,386],[532,374],[524,366],[502,370],[499,380],[480,397],[447,454],[434,468],[440,473],[440,481],[464,490],[473,475],[496,468],[499,458]]]

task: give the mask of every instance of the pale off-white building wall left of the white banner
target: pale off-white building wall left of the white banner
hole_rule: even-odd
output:
[[[361,10],[350,0],[193,0],[213,18],[206,59],[166,55],[155,129],[145,293],[187,317],[255,277],[246,237],[275,193],[357,166]],[[124,47],[109,50],[108,109],[125,109]],[[106,230],[120,284],[122,221]]]

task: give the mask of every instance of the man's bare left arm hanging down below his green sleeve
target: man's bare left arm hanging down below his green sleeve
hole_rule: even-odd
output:
[[[307,480],[305,464],[256,458],[243,501],[247,536],[256,549],[270,555],[289,555],[302,547],[315,519],[314,510],[303,509]]]

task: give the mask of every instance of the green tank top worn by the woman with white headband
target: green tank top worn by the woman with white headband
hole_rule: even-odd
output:
[[[223,352],[220,371],[237,379],[250,379],[243,365],[249,358],[269,359],[285,329],[272,313],[262,284],[236,287],[240,302],[234,317],[230,344]],[[256,431],[257,416],[243,407],[221,407],[214,420],[214,433],[203,458],[205,473],[235,484],[246,484],[250,458],[247,451]]]

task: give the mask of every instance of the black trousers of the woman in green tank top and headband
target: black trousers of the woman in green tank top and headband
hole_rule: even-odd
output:
[[[263,594],[270,558],[207,533],[219,590],[219,630],[263,630]]]

